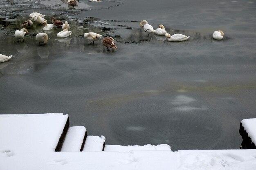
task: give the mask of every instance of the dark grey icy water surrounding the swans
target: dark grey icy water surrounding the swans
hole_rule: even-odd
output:
[[[238,149],[242,119],[256,117],[256,3],[254,1],[126,0],[0,1],[0,113],[64,113],[71,126],[104,135],[106,144],[169,144],[178,149]],[[24,43],[14,31],[30,13],[70,23],[46,32],[39,46],[28,29]],[[16,19],[16,20],[8,20]],[[185,42],[146,37],[147,20],[163,24]],[[213,31],[225,38],[212,40]],[[88,45],[83,33],[117,41],[116,51]]]

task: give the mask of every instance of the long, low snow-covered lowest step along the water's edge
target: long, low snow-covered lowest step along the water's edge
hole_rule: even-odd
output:
[[[167,144],[161,145],[144,145],[144,146],[121,146],[121,145],[106,145],[104,151],[117,151],[117,152],[129,152],[129,151],[146,151],[146,150],[170,150],[171,147]]]

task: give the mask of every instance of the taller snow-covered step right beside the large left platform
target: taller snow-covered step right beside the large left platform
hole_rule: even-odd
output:
[[[61,152],[79,152],[83,150],[87,131],[84,126],[68,128]]]

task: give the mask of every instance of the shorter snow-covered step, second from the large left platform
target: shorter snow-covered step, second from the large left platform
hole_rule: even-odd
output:
[[[103,151],[105,148],[105,140],[106,138],[104,136],[87,136],[83,152]]]

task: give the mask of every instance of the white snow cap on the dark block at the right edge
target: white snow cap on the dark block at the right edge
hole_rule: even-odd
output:
[[[256,119],[243,119],[241,123],[252,142],[256,144]]]

